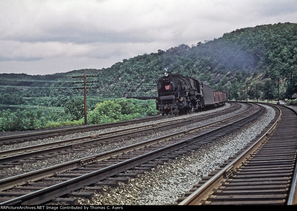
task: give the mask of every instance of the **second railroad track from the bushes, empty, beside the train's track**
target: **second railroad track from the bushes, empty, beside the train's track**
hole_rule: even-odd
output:
[[[238,110],[241,108],[240,104],[232,104],[231,107],[218,111],[210,112],[207,115],[195,115],[191,117],[180,118],[178,120],[167,120],[161,123],[153,123],[144,126],[136,126],[132,128],[121,129],[117,131],[105,132],[102,134],[93,134],[85,137],[65,139],[57,142],[49,142],[40,145],[33,145],[12,150],[0,151],[0,168],[10,167],[11,165],[21,165],[22,159],[30,158],[33,162],[37,156],[47,155],[49,153],[58,153],[65,150],[81,149],[82,147],[100,147],[100,145],[109,144],[108,141],[117,141],[123,138],[133,136],[141,136],[148,133],[156,133],[158,131],[169,130],[187,123],[195,123],[201,120],[214,118],[228,112]],[[41,159],[41,158],[40,158]]]

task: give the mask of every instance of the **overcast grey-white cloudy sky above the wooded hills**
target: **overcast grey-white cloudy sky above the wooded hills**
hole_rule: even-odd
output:
[[[297,23],[296,0],[0,0],[0,73],[107,68],[279,22]]]

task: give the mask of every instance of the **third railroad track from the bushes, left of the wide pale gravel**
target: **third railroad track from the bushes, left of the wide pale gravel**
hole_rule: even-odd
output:
[[[117,177],[118,175],[125,177],[119,172],[127,169],[130,169],[129,173],[125,173],[127,176],[135,175],[148,166],[162,162],[162,156],[166,153],[174,154],[175,150],[187,152],[191,147],[197,148],[211,141],[210,136],[215,139],[232,132],[240,125],[257,118],[261,111],[260,106],[254,105],[242,115],[234,115],[218,122],[209,123],[205,128],[199,128],[198,131],[197,128],[192,128],[191,130],[0,180],[1,205],[40,204],[52,200],[53,196],[61,197],[67,193],[69,195],[70,191],[73,191],[71,194],[74,194],[75,190],[79,188],[87,189],[86,192],[94,189],[99,190],[98,185],[107,183],[106,181],[99,181],[106,180],[106,177]],[[185,149],[181,149],[182,147]],[[148,161],[151,161],[151,164],[143,165]],[[89,187],[89,185],[93,185],[93,187]],[[75,195],[83,195],[82,192],[85,193],[85,191],[79,191],[75,192]]]

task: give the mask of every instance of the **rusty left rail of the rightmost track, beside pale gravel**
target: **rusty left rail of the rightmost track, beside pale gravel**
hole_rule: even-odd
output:
[[[201,201],[206,200],[208,195],[214,188],[217,188],[224,179],[228,178],[228,176],[234,171],[234,169],[238,168],[241,163],[249,157],[251,153],[253,153],[257,148],[262,144],[262,142],[266,139],[267,136],[277,127],[278,123],[282,119],[282,112],[279,108],[279,117],[274,122],[274,124],[269,128],[265,134],[263,134],[256,142],[254,142],[250,147],[248,147],[243,153],[241,153],[237,158],[235,158],[231,163],[225,166],[222,170],[220,170],[217,174],[215,174],[211,179],[209,179],[206,183],[204,183],[200,188],[194,191],[190,196],[184,199],[179,205],[197,205],[200,204]]]

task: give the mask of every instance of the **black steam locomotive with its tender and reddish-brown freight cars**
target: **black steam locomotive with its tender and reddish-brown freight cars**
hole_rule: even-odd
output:
[[[217,107],[227,100],[225,92],[214,91],[197,78],[171,72],[164,73],[157,88],[156,107],[162,115],[192,112],[206,106]]]

